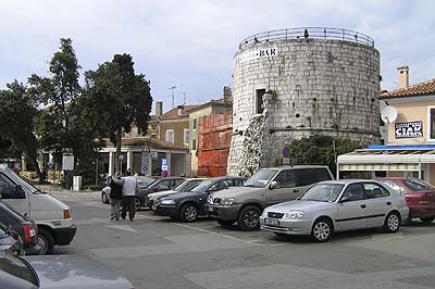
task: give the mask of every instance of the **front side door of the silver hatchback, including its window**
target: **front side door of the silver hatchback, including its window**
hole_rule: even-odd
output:
[[[363,184],[350,184],[337,206],[336,230],[364,228],[368,226],[368,215]]]

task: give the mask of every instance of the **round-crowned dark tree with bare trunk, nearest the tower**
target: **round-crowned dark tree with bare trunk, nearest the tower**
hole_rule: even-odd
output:
[[[88,129],[109,137],[116,147],[116,156],[121,155],[123,130],[129,133],[134,124],[139,134],[147,131],[152,104],[150,86],[145,75],[135,74],[129,54],[115,54],[112,62],[86,72],[79,102]],[[119,171],[120,159],[116,159]]]

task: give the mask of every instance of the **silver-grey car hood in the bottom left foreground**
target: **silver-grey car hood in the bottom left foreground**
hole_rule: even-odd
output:
[[[40,288],[132,289],[133,285],[101,263],[79,255],[26,256],[36,271]]]

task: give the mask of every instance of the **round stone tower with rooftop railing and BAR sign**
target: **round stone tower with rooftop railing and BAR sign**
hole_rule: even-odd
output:
[[[364,34],[307,27],[248,37],[235,54],[228,174],[281,164],[283,149],[310,135],[380,141],[378,92],[380,52]]]

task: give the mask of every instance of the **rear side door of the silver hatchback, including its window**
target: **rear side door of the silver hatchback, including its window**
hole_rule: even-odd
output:
[[[376,183],[364,183],[366,205],[369,210],[369,227],[384,224],[385,216],[391,210],[389,191]]]

